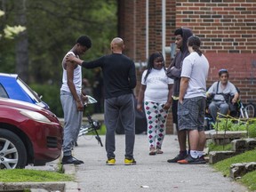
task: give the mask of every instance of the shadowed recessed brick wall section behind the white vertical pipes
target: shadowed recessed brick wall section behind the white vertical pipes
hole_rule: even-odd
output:
[[[146,55],[146,0],[120,0],[118,1],[118,36],[124,38],[124,54],[135,62],[147,61]],[[175,1],[166,1],[166,42],[172,43],[172,34],[175,30]],[[162,51],[162,0],[148,1],[148,54]],[[170,55],[166,56],[166,63],[171,62]],[[137,87],[140,89],[141,74],[145,68],[137,70]],[[168,116],[167,132],[172,132],[172,116]]]

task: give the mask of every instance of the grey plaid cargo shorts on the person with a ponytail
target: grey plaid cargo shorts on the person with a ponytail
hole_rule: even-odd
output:
[[[195,97],[178,103],[179,130],[204,131],[205,102],[204,97]]]

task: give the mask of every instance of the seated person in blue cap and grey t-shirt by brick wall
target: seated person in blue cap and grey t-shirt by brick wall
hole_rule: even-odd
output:
[[[233,97],[231,100],[233,104],[236,103],[239,97],[236,86],[228,81],[228,70],[220,69],[219,77],[220,81],[214,82],[206,93],[208,98],[212,97],[212,102],[209,105],[209,113],[214,123],[216,122],[218,110],[224,116],[228,114],[228,101],[230,97]]]

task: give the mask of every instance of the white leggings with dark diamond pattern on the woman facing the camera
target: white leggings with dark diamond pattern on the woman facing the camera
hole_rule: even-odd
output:
[[[166,130],[166,118],[168,110],[164,109],[163,103],[144,103],[145,113],[148,122],[149,148],[161,148]]]

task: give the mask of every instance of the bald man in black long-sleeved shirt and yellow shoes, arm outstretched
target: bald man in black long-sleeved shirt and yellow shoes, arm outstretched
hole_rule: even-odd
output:
[[[107,164],[113,165],[115,159],[115,131],[118,116],[124,125],[125,158],[124,164],[136,164],[133,158],[135,140],[135,111],[132,89],[136,86],[134,62],[123,54],[124,41],[116,37],[110,44],[112,54],[102,56],[97,60],[85,62],[69,56],[83,68],[102,68],[104,82],[104,119],[107,127],[106,151]]]

